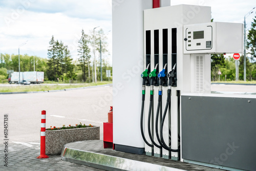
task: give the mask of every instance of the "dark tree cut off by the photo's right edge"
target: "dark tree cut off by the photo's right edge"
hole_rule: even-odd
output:
[[[246,43],[246,49],[250,51],[248,54],[251,55],[250,59],[254,63],[256,62],[256,19],[255,18],[253,18],[253,22],[251,23],[251,29],[249,30],[249,33],[247,35],[248,41]]]

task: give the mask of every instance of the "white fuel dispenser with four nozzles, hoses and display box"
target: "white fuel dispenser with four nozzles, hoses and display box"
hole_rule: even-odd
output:
[[[210,19],[210,7],[144,10],[147,69],[141,74],[145,92],[141,133],[148,156],[182,160],[181,94],[210,93],[211,53],[243,51],[243,24],[209,23]]]

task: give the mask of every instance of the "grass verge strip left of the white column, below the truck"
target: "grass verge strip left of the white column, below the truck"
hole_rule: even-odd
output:
[[[102,84],[109,84],[112,83],[112,81],[102,81],[97,83],[80,83],[80,84],[66,84],[66,85],[59,85],[59,84],[53,84],[53,85],[46,85],[44,83],[40,85],[20,85],[20,86],[7,86],[7,87],[0,87],[0,92],[38,92],[38,91],[49,91],[49,90],[64,90],[64,89],[72,89],[72,88],[80,88],[80,87],[89,87],[89,86],[99,86]]]

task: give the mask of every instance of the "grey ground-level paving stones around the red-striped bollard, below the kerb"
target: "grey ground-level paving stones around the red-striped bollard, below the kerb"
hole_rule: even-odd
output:
[[[58,171],[58,170],[70,170],[70,171],[101,171],[93,167],[85,165],[65,162],[60,159],[60,156],[49,156],[47,159],[37,159],[40,155],[40,143],[14,143],[8,144],[8,167],[4,166],[4,144],[0,145],[0,171],[34,171],[34,170],[47,170],[47,171]]]

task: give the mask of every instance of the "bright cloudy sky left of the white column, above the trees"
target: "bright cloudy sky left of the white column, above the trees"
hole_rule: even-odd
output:
[[[96,26],[112,29],[110,1],[5,1],[0,3],[0,53],[47,57],[49,41],[54,35],[77,55],[77,41],[82,29],[88,34]],[[23,5],[25,2],[25,5]],[[27,3],[27,4],[26,4]],[[22,9],[24,10],[19,10]],[[26,7],[26,8],[25,8]],[[25,10],[26,9],[26,10]],[[16,15],[15,15],[16,14]],[[9,19],[9,20],[8,20]],[[6,20],[9,23],[6,23]]]

